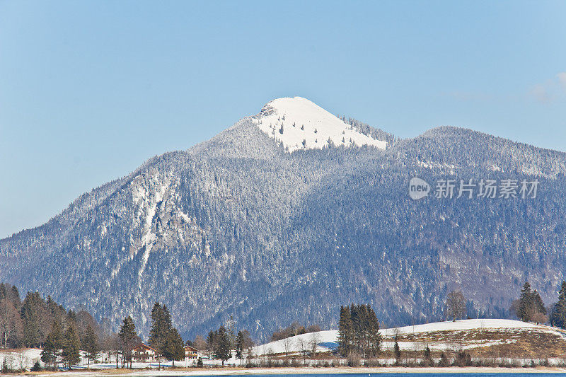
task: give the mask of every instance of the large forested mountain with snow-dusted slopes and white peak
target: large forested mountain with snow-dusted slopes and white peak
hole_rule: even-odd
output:
[[[131,314],[143,334],[156,300],[185,336],[229,315],[258,337],[335,326],[345,303],[388,325],[434,320],[451,289],[471,315],[506,315],[525,279],[550,303],[565,278],[565,173],[565,153],[455,127],[399,140],[281,98],[0,240],[0,280],[115,325]],[[540,189],[412,201],[415,176]]]

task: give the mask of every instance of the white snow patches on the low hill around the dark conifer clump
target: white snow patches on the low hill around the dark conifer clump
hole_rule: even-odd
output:
[[[391,338],[398,333],[399,335],[416,334],[418,332],[458,332],[463,330],[536,330],[538,332],[551,332],[560,337],[565,337],[564,333],[558,331],[555,327],[544,325],[535,325],[533,323],[522,322],[519,320],[505,319],[472,319],[472,320],[456,320],[455,322],[434,322],[424,325],[394,327],[382,329],[379,332],[384,338]],[[277,340],[267,344],[261,344],[253,349],[253,354],[279,354],[283,352],[300,352],[301,346],[316,340],[320,351],[325,352],[329,349],[335,349],[338,346],[338,330],[325,330],[311,332],[308,334],[296,335],[289,337],[287,340]],[[302,343],[301,343],[302,341]],[[480,347],[482,344],[471,344],[468,348]],[[393,342],[383,342],[383,347],[393,347]],[[414,342],[400,342],[401,349],[415,349]],[[434,349],[444,349],[446,344],[431,345]]]

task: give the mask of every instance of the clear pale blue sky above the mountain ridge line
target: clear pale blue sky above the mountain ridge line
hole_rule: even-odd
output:
[[[566,151],[565,1],[0,0],[0,238],[300,95]]]

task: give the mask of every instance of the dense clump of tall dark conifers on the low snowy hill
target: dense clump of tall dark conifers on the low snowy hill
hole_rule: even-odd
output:
[[[375,356],[381,347],[379,321],[369,305],[340,307],[338,320],[338,344],[343,356],[358,352],[364,356]]]

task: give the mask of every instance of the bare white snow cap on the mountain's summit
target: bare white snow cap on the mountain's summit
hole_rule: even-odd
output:
[[[357,132],[350,124],[301,97],[272,100],[253,120],[289,152],[323,149],[329,141],[336,146],[371,145],[380,149],[385,149],[387,144]]]

